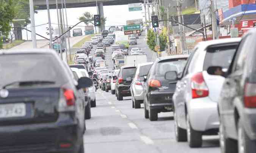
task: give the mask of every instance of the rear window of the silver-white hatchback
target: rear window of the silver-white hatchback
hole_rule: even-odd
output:
[[[203,70],[206,71],[209,66],[221,66],[223,68],[229,68],[237,45],[238,44],[229,46],[213,46],[207,48]]]

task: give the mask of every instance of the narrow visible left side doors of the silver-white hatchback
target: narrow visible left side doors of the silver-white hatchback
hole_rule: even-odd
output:
[[[197,48],[195,49],[195,51]],[[185,89],[187,86],[187,77],[188,74],[188,66],[190,65],[191,60],[193,59],[193,55],[195,54],[195,51],[193,51],[190,56],[188,57],[187,63],[185,65],[185,68],[183,70],[181,79],[177,82],[176,90],[174,93],[174,109],[176,113],[177,120],[179,122],[180,127],[186,128],[187,124],[185,121]]]

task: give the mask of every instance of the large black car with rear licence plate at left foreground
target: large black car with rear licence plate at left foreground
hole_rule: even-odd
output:
[[[15,59],[15,60],[13,60]],[[85,119],[78,84],[50,50],[0,54],[0,148],[9,153],[84,153]]]

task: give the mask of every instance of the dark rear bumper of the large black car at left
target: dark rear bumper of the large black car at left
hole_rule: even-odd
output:
[[[1,126],[1,152],[48,153],[73,152],[82,140],[82,129],[68,114],[60,113],[57,122]],[[71,147],[61,148],[61,143]]]

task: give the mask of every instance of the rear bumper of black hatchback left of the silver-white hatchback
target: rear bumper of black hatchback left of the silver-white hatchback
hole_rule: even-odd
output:
[[[161,112],[168,112],[173,107],[173,91],[151,91],[148,95],[149,108],[157,109]]]

